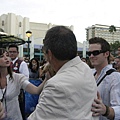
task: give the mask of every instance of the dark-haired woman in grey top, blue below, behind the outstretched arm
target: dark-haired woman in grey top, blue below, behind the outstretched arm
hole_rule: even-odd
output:
[[[39,86],[42,83],[40,78],[39,61],[37,58],[32,58],[29,62],[29,82],[35,86]],[[38,103],[39,95],[33,95],[25,92],[25,115],[28,117],[36,108]]]

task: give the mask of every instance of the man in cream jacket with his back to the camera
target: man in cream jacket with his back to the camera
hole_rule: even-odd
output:
[[[89,66],[77,56],[74,33],[64,26],[51,28],[43,52],[56,74],[46,82],[28,120],[98,120],[91,112],[97,85]]]

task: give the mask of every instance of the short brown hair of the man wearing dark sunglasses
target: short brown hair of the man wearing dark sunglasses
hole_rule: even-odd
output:
[[[89,44],[100,44],[102,51],[110,52],[110,44],[104,38],[101,38],[101,37],[91,38],[91,39],[89,39]],[[108,56],[108,62],[109,62],[109,57],[110,57],[110,54]]]

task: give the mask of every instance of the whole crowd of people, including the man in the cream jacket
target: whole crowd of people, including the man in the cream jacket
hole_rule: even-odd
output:
[[[55,26],[45,35],[43,53],[44,64],[32,58],[27,65],[18,46],[0,48],[1,120],[120,120],[119,48],[113,57],[110,44],[94,37],[88,59],[80,58],[74,33]],[[30,79],[42,82],[35,86]],[[20,101],[25,91],[39,96],[27,117],[25,100]]]

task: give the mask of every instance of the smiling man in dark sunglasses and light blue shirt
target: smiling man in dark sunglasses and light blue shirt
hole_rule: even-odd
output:
[[[87,54],[96,70],[96,82],[99,83],[106,72],[112,68],[109,64],[110,45],[103,38],[91,38]],[[93,116],[100,115],[100,120],[120,120],[120,73],[112,72],[103,79],[98,86],[98,99],[94,101]]]

